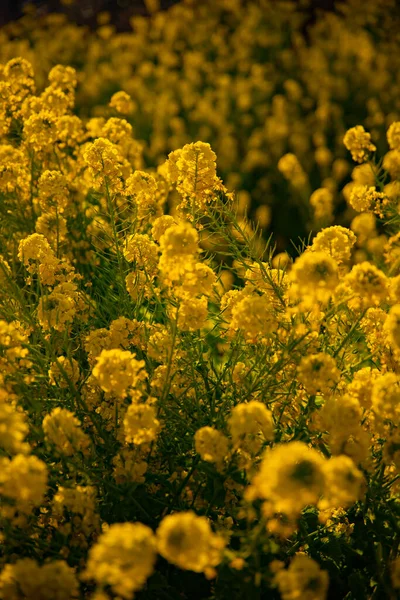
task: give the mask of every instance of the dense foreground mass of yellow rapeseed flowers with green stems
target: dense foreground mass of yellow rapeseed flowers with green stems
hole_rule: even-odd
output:
[[[202,77],[199,56],[186,60]],[[277,252],[207,142],[146,168],[123,118],[136,97],[117,91],[119,117],[83,119],[74,69],[55,66],[39,93],[25,59],[0,76],[0,598],[395,597],[393,155],[379,160],[361,126],[344,136],[358,164],[343,195],[360,213],[345,227],[333,186],[312,192],[306,159],[281,148],[277,176],[324,227]],[[386,156],[399,151],[391,121]]]

